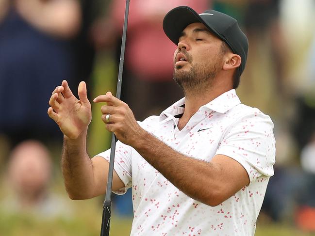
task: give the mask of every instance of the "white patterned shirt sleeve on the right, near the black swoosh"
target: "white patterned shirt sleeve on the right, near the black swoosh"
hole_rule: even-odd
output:
[[[258,110],[230,126],[219,143],[216,155],[225,155],[239,162],[247,171],[251,183],[262,175],[273,175],[275,152],[273,123],[269,116]]]

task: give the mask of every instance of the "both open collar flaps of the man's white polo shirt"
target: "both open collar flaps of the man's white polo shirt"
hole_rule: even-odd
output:
[[[231,108],[235,107],[236,105],[240,104],[241,101],[236,95],[235,89],[231,89],[209,103],[203,105],[201,108],[206,108],[209,110],[214,110],[219,113],[225,113]],[[166,110],[162,111],[160,114],[160,122],[165,120],[167,117],[171,116],[177,116],[179,114],[182,114],[185,110],[185,98],[182,98],[181,100],[175,102],[173,105],[168,107]]]

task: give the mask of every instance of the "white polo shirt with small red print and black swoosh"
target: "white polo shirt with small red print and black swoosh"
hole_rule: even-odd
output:
[[[184,102],[183,98],[160,116],[139,122],[140,126],[185,156],[211,161],[221,154],[235,159],[246,169],[250,184],[222,204],[211,207],[188,197],[132,147],[118,141],[114,168],[126,188],[116,193],[132,188],[131,235],[254,235],[275,163],[270,117],[241,104],[233,89],[200,107],[179,130],[178,117],[184,111]],[[107,150],[98,156],[109,160],[109,155]]]

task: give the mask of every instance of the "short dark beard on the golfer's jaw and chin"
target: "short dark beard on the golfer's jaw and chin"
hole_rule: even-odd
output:
[[[186,55],[187,57],[188,55]],[[205,89],[211,89],[214,79],[219,72],[223,55],[220,55],[213,63],[191,63],[192,58],[187,57],[191,63],[189,70],[180,70],[182,66],[176,66],[174,69],[174,80],[186,92],[201,92]]]

